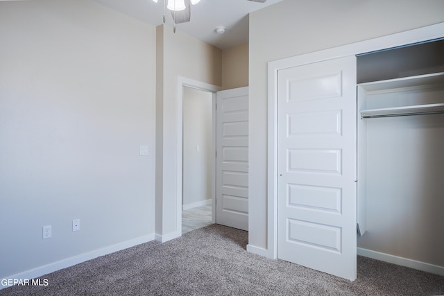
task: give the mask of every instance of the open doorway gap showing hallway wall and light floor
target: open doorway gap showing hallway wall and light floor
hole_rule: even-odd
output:
[[[183,87],[182,234],[212,224],[212,92]]]

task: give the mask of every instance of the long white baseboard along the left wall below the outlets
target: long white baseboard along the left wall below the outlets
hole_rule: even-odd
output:
[[[69,268],[70,266],[76,265],[78,263],[82,263],[99,256],[104,256],[107,254],[111,254],[123,249],[127,249],[128,247],[133,247],[135,245],[140,245],[141,243],[147,243],[148,241],[154,240],[154,234],[148,234],[146,236],[140,236],[138,238],[131,239],[129,241],[123,241],[122,243],[117,243],[115,245],[109,245],[108,247],[102,247],[101,249],[97,249],[91,252],[87,252],[84,254],[80,254],[77,256],[73,256],[67,259],[63,259],[60,261],[56,261],[53,263],[49,263],[46,265],[39,266],[37,268],[33,268],[31,270],[26,270],[24,272],[19,272],[15,275],[10,275],[8,277],[3,277],[2,279],[36,279],[37,277],[42,277],[42,275],[47,275],[51,272],[55,272],[57,270],[61,270],[63,268]],[[8,288],[8,286],[3,286],[1,284],[3,281],[0,281],[0,290],[3,288]]]

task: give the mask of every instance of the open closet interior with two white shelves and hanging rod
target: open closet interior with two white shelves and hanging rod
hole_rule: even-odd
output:
[[[357,56],[358,247],[444,266],[444,40]]]

